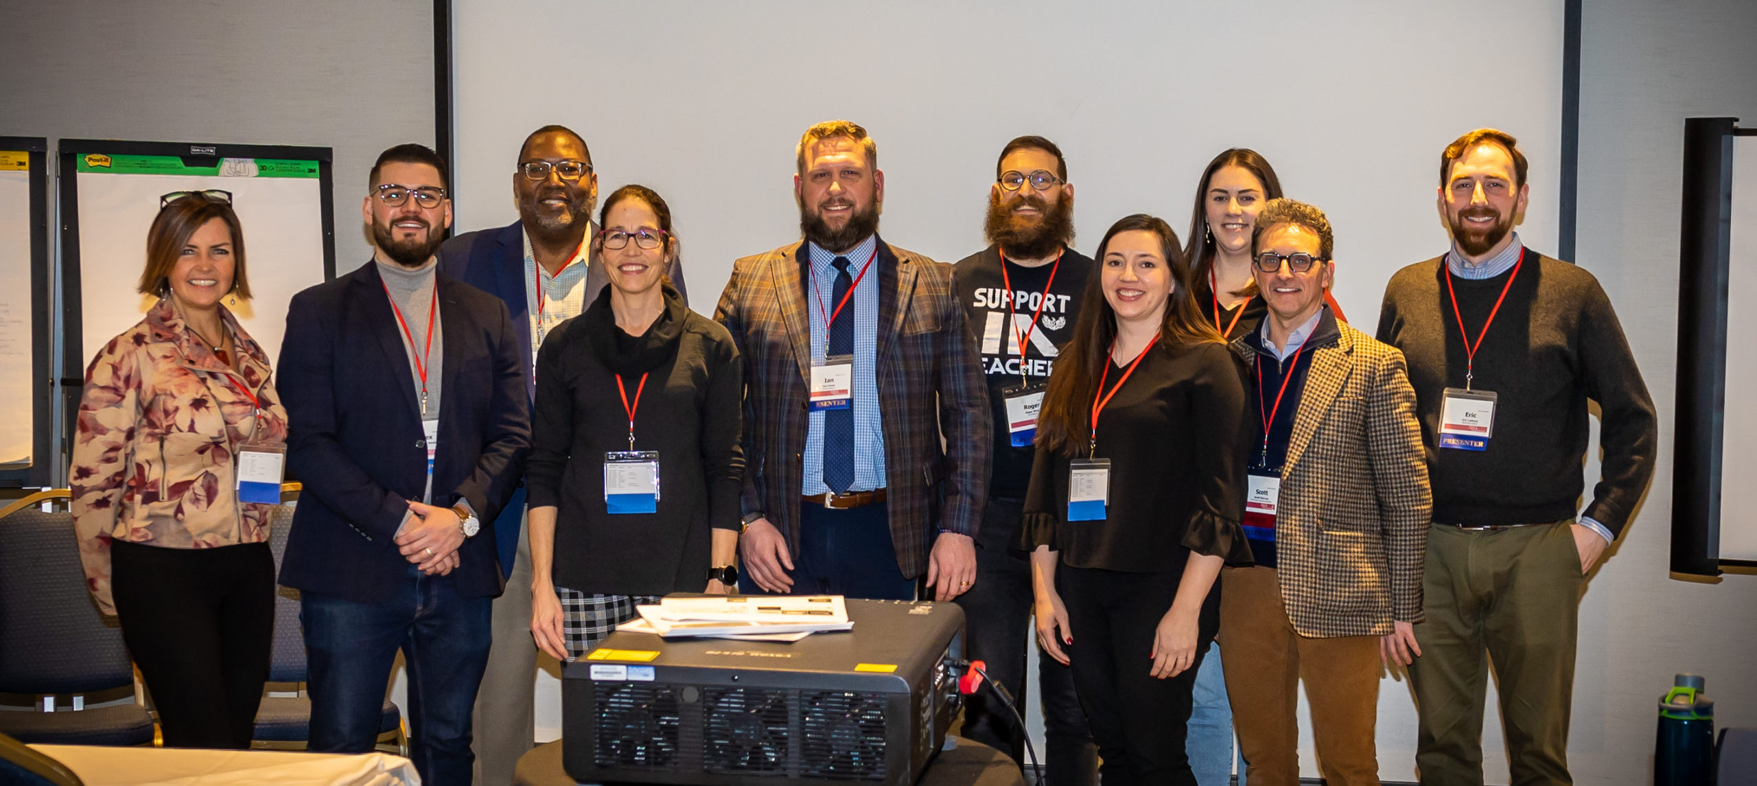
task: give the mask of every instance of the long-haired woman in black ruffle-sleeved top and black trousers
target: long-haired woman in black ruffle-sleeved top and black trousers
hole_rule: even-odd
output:
[[[1037,633],[1074,668],[1105,781],[1195,784],[1184,723],[1214,579],[1249,561],[1244,382],[1170,225],[1126,216],[1095,257],[1024,505]]]

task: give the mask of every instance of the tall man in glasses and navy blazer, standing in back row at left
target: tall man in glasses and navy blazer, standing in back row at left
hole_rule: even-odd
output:
[[[585,139],[562,125],[531,132],[513,167],[518,222],[452,237],[439,246],[439,271],[506,302],[518,325],[525,392],[536,396],[532,368],[543,336],[578,317],[608,281],[590,257],[597,174]],[[683,269],[671,281],[683,292]],[[524,535],[525,491],[494,522],[508,593],[494,601],[494,651],[476,698],[478,782],[511,782],[518,756],[536,737],[538,649],[531,640],[531,545]]]

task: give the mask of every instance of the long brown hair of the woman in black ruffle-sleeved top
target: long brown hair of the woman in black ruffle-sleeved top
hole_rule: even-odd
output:
[[[1202,317],[1195,294],[1189,290],[1189,260],[1170,223],[1146,213],[1135,213],[1110,225],[1093,255],[1093,273],[1081,295],[1081,318],[1074,322],[1074,338],[1061,346],[1054,371],[1049,373],[1049,390],[1044,392],[1044,410],[1037,418],[1037,445],[1075,455],[1086,450],[1091,436],[1091,403],[1098,389],[1098,375],[1110,362],[1110,343],[1116,341],[1116,311],[1103,297],[1103,257],[1110,239],[1123,232],[1153,232],[1172,273],[1172,295],[1165,302],[1165,322],[1160,325],[1160,343],[1188,346],[1204,341],[1221,341],[1219,331]]]

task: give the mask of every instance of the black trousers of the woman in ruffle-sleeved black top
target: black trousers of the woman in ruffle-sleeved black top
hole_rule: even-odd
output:
[[[1103,786],[1197,786],[1184,753],[1191,691],[1219,626],[1219,584],[1202,603],[1197,661],[1170,679],[1151,675],[1153,637],[1172,608],[1182,570],[1123,573],[1056,566],[1068,608],[1074,686],[1098,742]]]

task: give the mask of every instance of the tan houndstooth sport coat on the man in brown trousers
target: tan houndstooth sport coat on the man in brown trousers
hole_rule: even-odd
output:
[[[1276,563],[1302,637],[1386,635],[1421,621],[1428,492],[1404,353],[1337,322],[1305,375],[1281,466]],[[1246,364],[1256,350],[1240,336]]]

